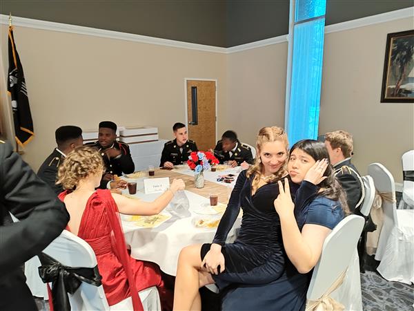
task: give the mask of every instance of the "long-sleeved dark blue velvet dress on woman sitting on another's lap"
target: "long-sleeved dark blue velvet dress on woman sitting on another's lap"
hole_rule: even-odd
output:
[[[221,218],[213,243],[222,245],[226,270],[213,275],[220,288],[234,283],[265,284],[279,279],[284,272],[286,256],[282,243],[279,216],[273,201],[279,195],[277,181],[257,189],[252,196],[252,180],[246,171],[240,173],[228,207]],[[290,191],[295,194],[298,185],[290,181]],[[235,243],[226,244],[231,227],[243,209],[242,226]],[[201,258],[207,254],[210,244],[201,247]]]

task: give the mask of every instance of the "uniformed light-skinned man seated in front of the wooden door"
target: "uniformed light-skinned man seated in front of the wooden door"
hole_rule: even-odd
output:
[[[198,151],[195,142],[188,140],[188,133],[184,124],[179,122],[174,124],[172,126],[172,133],[175,136],[175,140],[170,140],[164,144],[159,167],[172,168],[174,165],[187,162],[190,153]]]

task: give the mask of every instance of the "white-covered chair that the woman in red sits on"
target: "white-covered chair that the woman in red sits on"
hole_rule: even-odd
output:
[[[68,267],[95,267],[97,265],[97,258],[90,245],[67,230],[63,230],[61,235],[43,250],[43,253]],[[32,272],[30,274],[25,273],[26,277],[30,278],[35,275]],[[37,277],[40,280],[39,274],[37,274]],[[29,288],[30,284],[34,283],[36,282],[28,280]],[[43,286],[46,288],[46,284],[43,284]],[[158,290],[154,286],[141,290],[139,298],[144,310],[161,310]],[[103,292],[103,286],[97,287],[85,282],[81,283],[74,294],[69,294],[69,301],[72,310],[132,310],[132,299],[130,297],[109,307]]]

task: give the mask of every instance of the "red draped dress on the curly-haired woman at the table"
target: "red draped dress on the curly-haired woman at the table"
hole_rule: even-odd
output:
[[[63,201],[69,193],[63,191],[59,198]],[[118,213],[110,190],[97,189],[86,202],[78,232],[97,256],[108,304],[115,305],[131,296],[131,292],[157,286],[163,310],[172,310],[172,292],[165,288],[158,265],[128,254]],[[134,310],[142,310],[138,294],[132,295],[132,301]]]

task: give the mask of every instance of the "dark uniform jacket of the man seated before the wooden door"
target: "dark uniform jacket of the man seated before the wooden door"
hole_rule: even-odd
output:
[[[182,148],[181,152],[179,149]],[[193,140],[187,140],[181,147],[177,144],[177,140],[170,140],[164,144],[164,149],[161,153],[161,162],[159,167],[164,167],[165,162],[171,162],[174,165],[179,165],[182,162],[187,162],[190,153],[198,151],[197,145]]]

